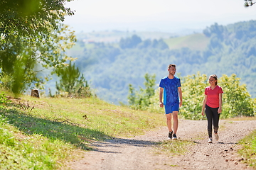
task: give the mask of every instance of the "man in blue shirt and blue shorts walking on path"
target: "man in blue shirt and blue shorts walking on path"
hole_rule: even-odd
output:
[[[169,64],[169,75],[160,81],[159,106],[164,107],[166,113],[166,124],[169,129],[169,138],[176,140],[178,130],[178,109],[182,105],[181,79],[174,77],[176,65]],[[162,101],[164,96],[164,103]],[[171,129],[171,115],[174,119],[174,131]]]

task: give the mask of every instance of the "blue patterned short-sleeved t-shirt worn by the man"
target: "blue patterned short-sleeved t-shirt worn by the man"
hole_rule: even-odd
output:
[[[179,103],[178,87],[181,86],[181,79],[178,79],[178,77],[174,77],[174,79],[164,77],[161,79],[159,86],[164,88],[164,105],[174,106]]]

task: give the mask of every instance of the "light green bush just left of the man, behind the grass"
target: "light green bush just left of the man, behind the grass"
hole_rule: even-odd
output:
[[[151,104],[150,98],[154,96],[156,75],[149,75],[146,73],[144,78],[145,89],[139,87],[139,91],[134,91],[132,84],[129,84],[128,102],[131,108],[146,110],[146,108]]]

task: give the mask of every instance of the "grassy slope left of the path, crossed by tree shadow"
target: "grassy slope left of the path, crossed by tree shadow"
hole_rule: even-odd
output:
[[[91,149],[90,142],[142,135],[164,125],[164,114],[98,98],[22,96],[0,103],[1,169],[65,169],[65,162]]]

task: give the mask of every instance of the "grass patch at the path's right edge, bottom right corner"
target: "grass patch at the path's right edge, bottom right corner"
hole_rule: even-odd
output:
[[[241,149],[238,150],[238,153],[243,158],[242,162],[256,169],[256,130],[240,140],[239,145]]]

